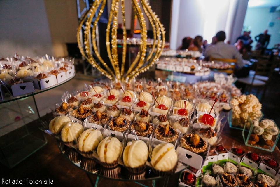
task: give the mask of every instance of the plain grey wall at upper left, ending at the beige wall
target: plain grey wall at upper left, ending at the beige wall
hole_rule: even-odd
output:
[[[0,56],[53,55],[43,0],[1,0],[0,25]]]

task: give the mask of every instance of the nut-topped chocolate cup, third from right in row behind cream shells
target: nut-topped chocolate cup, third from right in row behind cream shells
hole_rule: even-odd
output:
[[[153,127],[150,123],[144,121],[136,121],[134,122],[130,130],[135,130],[137,136],[148,136],[152,133]]]

